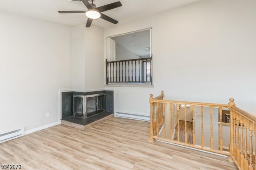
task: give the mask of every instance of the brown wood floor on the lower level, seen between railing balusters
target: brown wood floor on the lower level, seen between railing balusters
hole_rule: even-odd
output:
[[[175,128],[175,134],[173,140],[178,140],[178,126]],[[179,121],[180,129],[180,142],[185,142],[185,121]],[[188,143],[193,144],[193,124],[192,122],[187,122],[187,138]]]

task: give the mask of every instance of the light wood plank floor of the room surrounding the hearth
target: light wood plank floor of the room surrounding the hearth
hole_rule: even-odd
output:
[[[235,170],[227,158],[148,142],[149,123],[112,117],[86,130],[57,125],[0,144],[0,164],[24,169]]]

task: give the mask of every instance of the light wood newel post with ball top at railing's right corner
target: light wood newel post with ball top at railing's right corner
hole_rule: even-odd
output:
[[[236,104],[234,103],[234,99],[230,98],[229,99],[229,110],[230,110],[230,139],[229,139],[229,152],[230,152],[230,156],[234,156],[234,113],[233,110],[231,109],[232,106],[235,106]],[[230,158],[230,160],[232,160]]]

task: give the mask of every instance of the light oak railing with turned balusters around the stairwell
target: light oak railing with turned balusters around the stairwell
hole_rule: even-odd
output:
[[[236,107],[234,99],[230,98],[228,104],[216,104],[170,101],[163,97],[162,91],[158,97],[151,94],[149,98],[150,142],[157,139],[224,154],[230,156],[238,169],[256,169],[256,117]],[[221,121],[224,108],[230,111],[230,124],[225,126]],[[192,120],[188,120],[189,114]]]

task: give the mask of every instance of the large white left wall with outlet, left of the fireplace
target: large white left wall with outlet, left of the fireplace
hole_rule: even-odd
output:
[[[70,27],[4,12],[0,21],[0,131],[58,122],[58,90],[71,88]]]

